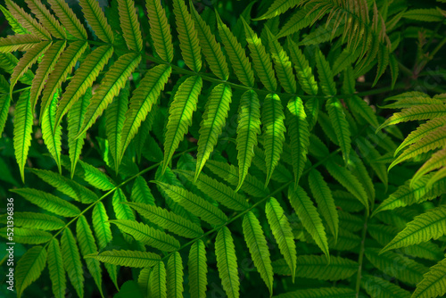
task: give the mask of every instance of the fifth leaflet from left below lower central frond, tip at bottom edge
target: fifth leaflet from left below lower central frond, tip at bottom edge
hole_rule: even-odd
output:
[[[273,294],[273,268],[269,259],[267,240],[263,234],[259,219],[249,211],[244,215],[244,240],[251,252],[252,261],[260,277],[268,286],[269,295]]]

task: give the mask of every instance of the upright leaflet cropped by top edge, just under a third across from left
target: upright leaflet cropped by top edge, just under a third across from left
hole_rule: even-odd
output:
[[[120,28],[127,46],[130,50],[141,52],[143,50],[143,37],[136,16],[135,3],[131,0],[119,0]]]

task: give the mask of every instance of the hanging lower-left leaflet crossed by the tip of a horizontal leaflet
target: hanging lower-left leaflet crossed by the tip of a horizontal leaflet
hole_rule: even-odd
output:
[[[87,219],[84,215],[81,215],[78,218],[78,221],[76,223],[76,235],[80,252],[84,257],[88,254],[97,252],[97,246],[95,238],[93,237],[93,232],[91,231],[90,225],[88,224]],[[103,273],[101,264],[99,263],[99,261],[90,258],[88,258],[86,262],[87,269],[92,275],[93,279],[95,279],[95,284],[99,289],[99,293],[101,293],[101,296],[103,296]]]

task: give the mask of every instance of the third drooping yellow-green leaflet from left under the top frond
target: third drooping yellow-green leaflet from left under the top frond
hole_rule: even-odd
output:
[[[48,77],[48,81],[45,84],[45,89],[42,95],[42,103],[40,109],[40,118],[48,109],[51,104],[51,100],[56,95],[57,90],[62,86],[62,83],[67,79],[72,68],[78,62],[78,58],[87,49],[87,42],[75,41],[62,53],[57,63],[54,65],[54,70]]]

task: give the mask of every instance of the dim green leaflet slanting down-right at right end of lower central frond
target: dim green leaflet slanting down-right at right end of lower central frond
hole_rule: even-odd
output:
[[[335,178],[342,186],[344,186],[352,195],[354,195],[360,203],[362,203],[368,211],[368,195],[364,190],[364,186],[361,185],[358,178],[351,174],[350,170],[347,170],[334,161],[326,162],[326,170],[330,175]]]

